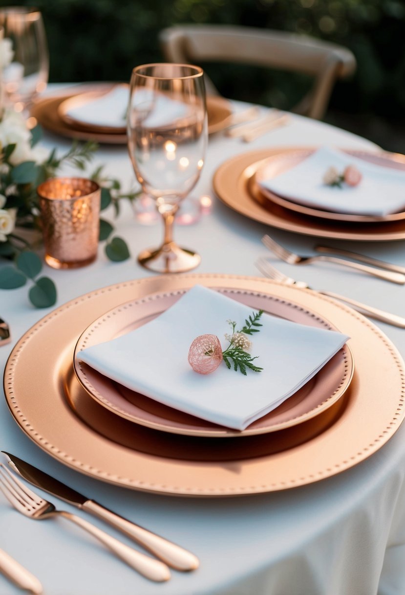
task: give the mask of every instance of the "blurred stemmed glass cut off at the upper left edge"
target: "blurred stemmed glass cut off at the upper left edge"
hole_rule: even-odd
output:
[[[5,101],[28,115],[31,102],[46,89],[49,55],[42,14],[36,8],[0,8],[0,27],[12,42],[11,64],[4,68]]]

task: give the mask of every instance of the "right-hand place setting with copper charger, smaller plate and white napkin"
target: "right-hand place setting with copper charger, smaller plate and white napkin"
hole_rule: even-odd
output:
[[[349,167],[359,174],[355,183],[344,180]],[[224,161],[213,186],[227,206],[272,227],[321,238],[383,242],[405,237],[404,171],[404,156],[389,152],[270,148]]]

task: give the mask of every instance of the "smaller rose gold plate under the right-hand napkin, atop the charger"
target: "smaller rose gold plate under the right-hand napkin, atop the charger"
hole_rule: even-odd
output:
[[[274,155],[262,161],[262,164],[256,171],[251,184],[252,195],[257,197],[262,195],[267,198],[270,202],[276,203],[277,205],[283,206],[291,211],[296,211],[303,215],[309,215],[310,217],[320,217],[325,219],[331,219],[333,221],[352,221],[353,223],[372,223],[374,221],[398,221],[405,219],[405,212],[394,212],[387,215],[366,215],[366,214],[353,214],[344,212],[327,211],[326,209],[319,209],[307,205],[300,204],[299,200],[295,201],[294,197],[279,196],[274,192],[271,192],[267,188],[260,186],[260,183],[264,180],[271,180],[285,171],[291,170],[295,165],[298,165],[304,159],[314,154],[316,149],[298,149],[297,151],[284,152],[279,155]],[[369,151],[344,151],[347,155],[352,155],[357,159],[363,159],[366,162],[379,165],[380,167],[405,171],[405,156],[402,157],[402,161],[398,161],[398,155],[392,155],[390,153],[376,153]]]

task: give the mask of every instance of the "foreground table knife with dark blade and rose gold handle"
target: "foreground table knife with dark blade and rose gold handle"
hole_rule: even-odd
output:
[[[140,527],[140,525],[136,525],[134,522],[128,521],[123,516],[110,511],[95,500],[83,496],[83,494],[66,486],[61,481],[55,479],[55,477],[51,477],[48,473],[45,473],[45,471],[37,469],[17,456],[11,455],[11,453],[5,452],[5,450],[2,450],[2,453],[8,457],[8,464],[11,468],[25,480],[29,481],[34,486],[47,491],[49,494],[106,521],[112,527],[118,529],[149,552],[153,553],[157,558],[166,562],[167,565],[172,566],[172,568],[181,571],[195,570],[198,568],[200,562],[198,561],[197,556],[191,552],[188,552],[164,537],[160,537],[156,533],[152,533],[151,531]]]

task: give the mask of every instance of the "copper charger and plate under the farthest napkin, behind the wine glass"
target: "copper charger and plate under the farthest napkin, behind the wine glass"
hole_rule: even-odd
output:
[[[97,127],[75,121],[67,117],[66,110],[62,105],[68,100],[79,104],[88,101],[88,99],[96,99],[112,90],[115,84],[94,83],[69,87],[58,95],[38,99],[31,108],[31,117],[36,118],[37,122],[45,129],[68,138],[94,140],[113,145],[126,144],[125,127],[116,131],[109,127]],[[223,121],[232,114],[231,104],[222,97],[207,96],[207,114],[208,133],[211,134],[219,130]]]

